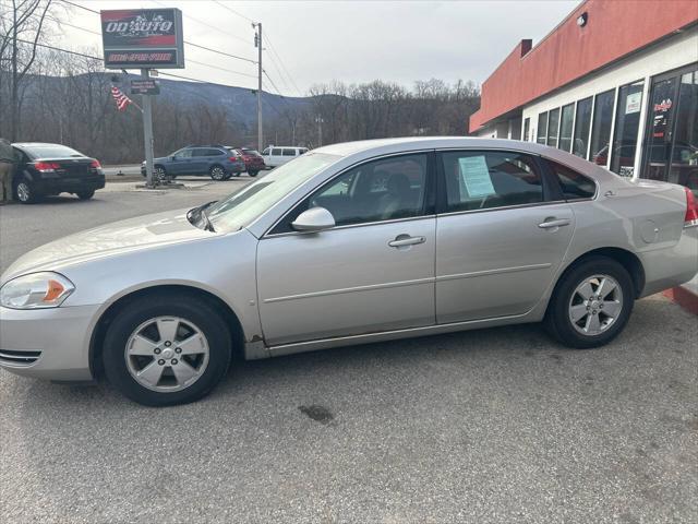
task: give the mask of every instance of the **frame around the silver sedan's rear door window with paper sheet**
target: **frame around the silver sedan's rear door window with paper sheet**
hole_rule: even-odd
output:
[[[520,155],[527,155],[533,160],[535,168],[539,170],[541,176],[541,187],[543,192],[543,200],[540,202],[531,202],[527,204],[515,204],[515,205],[502,205],[498,207],[485,207],[481,210],[461,210],[461,211],[449,211],[448,210],[448,195],[446,193],[446,174],[444,172],[444,163],[443,163],[443,153],[474,153],[474,152],[483,152],[483,153],[516,153]],[[555,182],[555,174],[552,172],[552,169],[547,166],[547,164],[542,159],[541,155],[537,153],[531,153],[528,151],[518,151],[518,150],[508,150],[501,147],[457,147],[457,148],[441,148],[435,151],[435,172],[436,172],[436,215],[458,215],[465,213],[488,213],[495,212],[500,210],[510,210],[518,207],[534,207],[547,204],[555,204],[565,202],[565,199],[562,196],[562,191],[559,190],[557,183]]]

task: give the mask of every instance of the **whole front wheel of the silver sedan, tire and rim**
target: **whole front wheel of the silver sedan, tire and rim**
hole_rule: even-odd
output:
[[[222,379],[231,358],[226,323],[205,300],[151,296],[122,310],[105,336],[109,381],[147,406],[194,402]]]

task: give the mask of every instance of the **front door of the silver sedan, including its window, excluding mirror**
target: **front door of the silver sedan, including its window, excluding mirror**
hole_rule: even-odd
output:
[[[434,324],[433,155],[375,159],[335,177],[257,249],[265,341],[280,345]],[[334,228],[290,224],[324,206]]]

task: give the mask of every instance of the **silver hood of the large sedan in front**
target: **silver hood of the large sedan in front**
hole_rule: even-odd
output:
[[[55,240],[20,257],[0,277],[10,278],[37,271],[60,271],[103,257],[179,243],[215,236],[193,226],[188,210],[168,211],[115,222]]]

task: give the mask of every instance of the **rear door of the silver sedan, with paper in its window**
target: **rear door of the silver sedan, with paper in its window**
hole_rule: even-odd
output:
[[[444,151],[437,166],[437,323],[526,313],[569,246],[569,204],[522,153]]]

